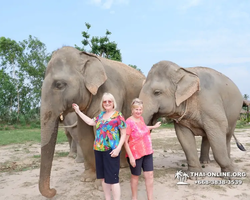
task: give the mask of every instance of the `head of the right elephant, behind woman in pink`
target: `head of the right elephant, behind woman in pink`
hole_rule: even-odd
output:
[[[178,119],[185,101],[199,90],[198,76],[170,61],[156,63],[148,73],[139,98],[143,100],[145,123],[159,117]]]

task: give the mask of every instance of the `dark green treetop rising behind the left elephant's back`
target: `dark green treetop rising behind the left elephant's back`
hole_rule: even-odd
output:
[[[109,36],[111,35],[109,30],[106,30],[106,34],[103,37],[93,36],[90,39],[90,34],[88,31],[91,28],[91,25],[89,23],[85,23],[85,26],[87,31],[82,32],[82,36],[84,38],[82,40],[83,47],[78,47],[75,45],[78,50],[88,51],[111,60],[122,61],[122,55],[120,50],[117,48],[117,44],[109,40]],[[89,50],[85,49],[87,46],[90,48]]]

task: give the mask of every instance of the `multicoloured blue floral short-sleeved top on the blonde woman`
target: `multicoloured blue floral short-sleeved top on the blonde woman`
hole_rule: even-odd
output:
[[[94,118],[96,122],[96,135],[94,142],[94,150],[107,151],[115,149],[120,141],[120,130],[126,128],[125,119],[121,112],[115,111],[109,119],[103,119],[102,111]]]

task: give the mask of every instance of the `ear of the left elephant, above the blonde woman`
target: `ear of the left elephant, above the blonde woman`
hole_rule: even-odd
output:
[[[81,73],[84,76],[86,88],[96,95],[98,88],[107,80],[107,75],[100,59],[85,52],[80,53],[82,56]]]

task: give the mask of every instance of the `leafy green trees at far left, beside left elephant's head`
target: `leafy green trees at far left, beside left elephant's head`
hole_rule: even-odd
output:
[[[19,115],[29,117],[27,120],[34,118],[30,113],[39,111],[42,81],[50,57],[45,45],[35,37],[21,42],[0,38],[0,99],[7,99],[0,101],[1,114],[7,108],[17,121]],[[0,119],[5,118],[6,115],[0,115]]]

